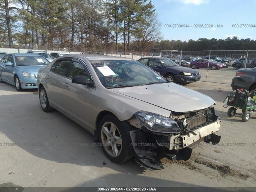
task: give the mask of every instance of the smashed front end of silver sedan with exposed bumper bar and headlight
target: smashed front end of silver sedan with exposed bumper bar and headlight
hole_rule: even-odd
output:
[[[157,114],[137,112],[130,124],[135,161],[150,170],[163,169],[160,156],[170,160],[188,160],[192,149],[201,142],[218,144],[220,120],[210,107],[185,113],[171,112],[166,118]]]

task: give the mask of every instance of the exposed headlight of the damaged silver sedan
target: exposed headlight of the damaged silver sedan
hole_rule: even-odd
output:
[[[145,111],[138,111],[135,115],[140,123],[152,132],[180,133],[180,127],[170,118]]]

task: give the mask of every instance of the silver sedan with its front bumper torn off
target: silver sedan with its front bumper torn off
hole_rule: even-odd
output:
[[[212,98],[136,60],[65,55],[38,71],[37,84],[42,110],[56,109],[88,130],[113,162],[134,158],[157,170],[159,154],[186,160],[200,142],[220,141]]]

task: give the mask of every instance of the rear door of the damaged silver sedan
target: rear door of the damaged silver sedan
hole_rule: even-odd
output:
[[[67,86],[65,84],[67,78],[66,74],[70,68],[70,63],[71,59],[56,61],[46,77],[48,79],[47,94],[49,102],[62,111],[64,111],[63,89]]]

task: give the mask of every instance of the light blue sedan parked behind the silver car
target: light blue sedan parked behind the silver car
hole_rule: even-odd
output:
[[[0,83],[12,84],[18,91],[36,89],[38,70],[49,63],[37,54],[7,54],[0,62]]]

